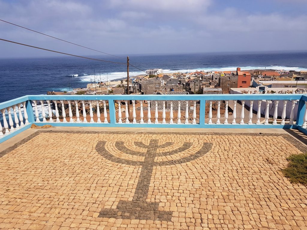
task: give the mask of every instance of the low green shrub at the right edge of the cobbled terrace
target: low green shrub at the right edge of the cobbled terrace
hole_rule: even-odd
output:
[[[307,185],[307,153],[292,154],[287,160],[289,161],[282,173],[291,183]]]

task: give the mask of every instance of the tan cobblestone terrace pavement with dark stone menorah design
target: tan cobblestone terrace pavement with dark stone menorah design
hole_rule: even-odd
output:
[[[288,134],[37,131],[0,153],[0,229],[307,229]]]

